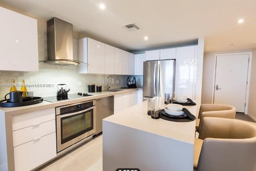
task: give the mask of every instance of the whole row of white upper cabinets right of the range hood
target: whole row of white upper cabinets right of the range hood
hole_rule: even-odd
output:
[[[80,63],[78,73],[135,75],[134,54],[91,38],[78,40],[78,60],[88,64]]]

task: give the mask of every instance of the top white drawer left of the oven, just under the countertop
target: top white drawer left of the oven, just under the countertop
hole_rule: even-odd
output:
[[[12,117],[12,130],[22,129],[55,119],[55,108],[32,111]]]

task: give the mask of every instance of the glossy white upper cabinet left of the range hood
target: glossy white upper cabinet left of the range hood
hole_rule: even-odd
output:
[[[37,20],[0,7],[0,70],[38,71]]]

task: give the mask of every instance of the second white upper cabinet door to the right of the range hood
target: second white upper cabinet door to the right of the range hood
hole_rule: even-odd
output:
[[[105,74],[114,74],[114,47],[105,44]]]

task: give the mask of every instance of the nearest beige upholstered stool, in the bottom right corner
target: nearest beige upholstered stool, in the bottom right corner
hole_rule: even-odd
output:
[[[202,119],[194,142],[196,171],[256,171],[256,125],[237,119]]]

